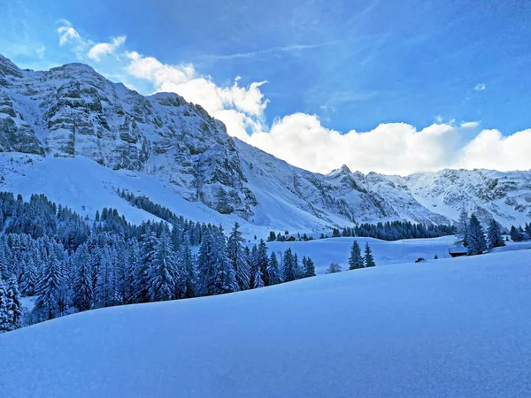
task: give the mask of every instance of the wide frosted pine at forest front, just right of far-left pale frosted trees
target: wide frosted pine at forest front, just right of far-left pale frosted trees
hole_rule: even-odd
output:
[[[37,284],[37,299],[35,300],[35,314],[37,318],[48,320],[58,318],[60,314],[59,301],[63,296],[62,264],[55,257],[50,256]]]

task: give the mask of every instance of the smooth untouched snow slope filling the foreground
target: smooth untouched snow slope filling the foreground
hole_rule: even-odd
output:
[[[0,335],[2,396],[530,396],[531,250],[93,310]]]

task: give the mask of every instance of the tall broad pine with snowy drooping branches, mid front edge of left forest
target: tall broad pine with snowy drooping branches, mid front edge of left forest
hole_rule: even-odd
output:
[[[151,302],[177,298],[180,283],[177,260],[168,233],[162,233],[148,270],[148,295]]]

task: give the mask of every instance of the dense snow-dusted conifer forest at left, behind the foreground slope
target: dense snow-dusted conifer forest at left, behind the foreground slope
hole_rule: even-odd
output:
[[[22,325],[20,297],[35,296],[29,323],[72,312],[265,287],[315,275],[291,249],[244,245],[237,223],[194,223],[142,199],[169,221],[127,223],[116,209],[95,221],[44,195],[0,193],[0,331]],[[153,206],[153,207],[151,207]],[[91,224],[91,225],[90,225]]]

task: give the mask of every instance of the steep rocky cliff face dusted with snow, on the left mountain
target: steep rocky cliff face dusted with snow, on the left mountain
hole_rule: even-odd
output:
[[[256,204],[221,122],[181,96],[144,97],[88,65],[23,71],[1,57],[0,150],[149,172],[191,201],[243,218]]]

